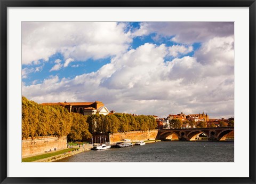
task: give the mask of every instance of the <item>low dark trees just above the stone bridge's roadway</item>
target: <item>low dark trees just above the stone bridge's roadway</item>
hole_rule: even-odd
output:
[[[215,123],[206,123],[204,121],[199,121],[199,122],[191,122],[191,121],[184,121],[182,122],[180,119],[172,119],[170,122],[170,127],[172,127],[173,129],[180,129],[181,127],[196,127],[196,128],[206,128],[206,127],[216,127]],[[220,121],[219,122],[219,126],[220,127],[234,127],[234,120],[230,120],[227,123]]]

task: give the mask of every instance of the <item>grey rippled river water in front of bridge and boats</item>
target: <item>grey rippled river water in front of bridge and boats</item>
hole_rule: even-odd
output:
[[[234,141],[161,141],[90,150],[55,162],[234,162]]]

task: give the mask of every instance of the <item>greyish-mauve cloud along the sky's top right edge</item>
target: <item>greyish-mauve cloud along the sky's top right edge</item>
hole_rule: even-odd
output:
[[[157,33],[173,36],[177,43],[205,42],[214,37],[234,35],[234,22],[142,22],[134,36]]]

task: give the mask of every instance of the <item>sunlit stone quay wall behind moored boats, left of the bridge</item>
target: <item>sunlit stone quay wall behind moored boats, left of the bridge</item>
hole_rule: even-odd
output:
[[[110,143],[120,142],[122,139],[130,139],[131,141],[146,141],[155,140],[158,130],[151,130],[147,132],[133,131],[125,133],[113,133],[109,134]]]

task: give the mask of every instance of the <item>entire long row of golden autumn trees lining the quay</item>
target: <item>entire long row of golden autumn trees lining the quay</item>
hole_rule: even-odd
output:
[[[22,138],[67,135],[74,141],[91,138],[90,132],[148,131],[156,127],[153,116],[121,113],[84,116],[69,113],[61,106],[40,105],[22,97]]]

